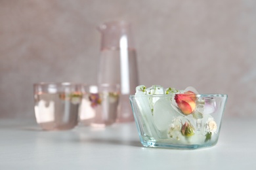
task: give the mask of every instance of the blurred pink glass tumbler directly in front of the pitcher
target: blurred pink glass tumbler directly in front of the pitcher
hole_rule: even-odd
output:
[[[83,85],[79,120],[85,126],[105,127],[116,122],[119,85]]]

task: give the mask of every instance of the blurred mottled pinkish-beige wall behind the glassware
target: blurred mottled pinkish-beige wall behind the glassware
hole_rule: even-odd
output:
[[[1,0],[0,117],[33,117],[34,82],[96,82],[110,20],[133,24],[140,84],[226,93],[226,116],[256,116],[256,1]]]

